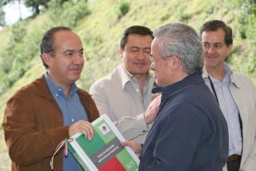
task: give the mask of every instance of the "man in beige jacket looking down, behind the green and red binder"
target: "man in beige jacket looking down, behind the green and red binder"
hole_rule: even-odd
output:
[[[128,27],[120,42],[122,63],[90,86],[99,113],[106,113],[126,140],[141,143],[154,120],[148,111],[158,109],[146,111],[154,97],[154,78],[149,73],[152,40],[152,31],[146,26]]]

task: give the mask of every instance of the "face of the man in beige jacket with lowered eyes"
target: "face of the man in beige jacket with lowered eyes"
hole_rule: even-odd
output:
[[[150,35],[129,34],[120,56],[126,70],[134,77],[146,76],[150,70],[150,51],[153,38]]]

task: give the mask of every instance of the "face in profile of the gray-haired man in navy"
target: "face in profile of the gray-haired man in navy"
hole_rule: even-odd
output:
[[[165,60],[162,58],[162,55],[159,52],[159,42],[157,38],[154,38],[152,42],[152,51],[151,51],[151,65],[150,69],[154,71],[154,80],[158,86],[166,86],[171,84],[171,75],[173,72],[170,70],[169,61],[170,58]]]

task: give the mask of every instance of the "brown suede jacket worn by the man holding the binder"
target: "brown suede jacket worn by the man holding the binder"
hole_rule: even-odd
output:
[[[88,118],[94,121],[98,109],[89,93],[78,89]],[[45,78],[22,87],[7,101],[2,128],[8,147],[11,170],[50,170],[50,158],[58,144],[69,137],[62,111],[46,85]],[[62,153],[54,157],[54,170],[62,170]]]

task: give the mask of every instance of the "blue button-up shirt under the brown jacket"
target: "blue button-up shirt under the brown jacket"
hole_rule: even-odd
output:
[[[54,99],[58,103],[58,107],[62,110],[64,125],[72,125],[79,120],[88,121],[86,110],[84,109],[80,98],[78,97],[78,87],[75,83],[70,86],[70,98],[67,99],[62,87],[57,85],[49,75],[45,74],[46,83]],[[64,154],[63,154],[64,155]],[[67,157],[63,157],[63,171],[83,170],[78,161],[71,153]]]

